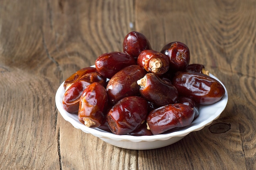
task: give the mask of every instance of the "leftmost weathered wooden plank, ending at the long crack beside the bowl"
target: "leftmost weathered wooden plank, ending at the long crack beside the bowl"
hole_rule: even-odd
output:
[[[58,81],[43,47],[43,7],[40,2],[1,1],[0,169],[60,167],[54,106]]]

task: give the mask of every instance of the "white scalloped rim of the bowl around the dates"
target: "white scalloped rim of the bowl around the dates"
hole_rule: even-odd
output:
[[[91,66],[91,67],[93,67],[93,66]],[[195,121],[193,121],[191,123],[191,125],[181,128],[174,132],[166,133],[166,134],[157,134],[157,135],[151,135],[151,136],[132,136],[132,135],[126,135],[126,134],[125,135],[117,135],[117,134],[113,134],[111,132],[106,132],[99,128],[89,128],[89,127],[85,126],[83,123],[81,123],[78,120],[78,116],[76,114],[70,114],[67,111],[65,111],[63,108],[62,99],[63,99],[63,95],[65,93],[65,89],[63,87],[64,82],[61,83],[61,85],[58,87],[58,90],[57,90],[56,96],[55,96],[55,103],[56,103],[56,107],[57,107],[58,111],[60,112],[61,116],[63,116],[63,118],[66,121],[70,122],[74,126],[74,128],[80,129],[85,133],[90,133],[99,138],[112,139],[115,141],[132,141],[132,142],[168,140],[175,136],[186,136],[187,134],[189,134],[191,132],[201,130],[205,126],[211,124],[214,120],[218,119],[218,117],[223,112],[223,110],[225,110],[225,107],[226,107],[227,101],[228,101],[227,89],[226,89],[225,85],[217,77],[213,76],[212,74],[209,74],[209,75],[212,78],[215,78],[217,81],[219,81],[223,85],[223,87],[225,88],[225,95],[222,97],[222,99],[220,101],[218,101],[212,105],[200,105],[199,114],[200,114],[200,110],[202,108],[204,108],[204,107],[207,108],[207,107],[212,107],[212,106],[216,107],[216,112],[200,123],[193,123],[193,122],[196,122],[196,120],[198,119],[197,118],[197,119],[195,119]]]

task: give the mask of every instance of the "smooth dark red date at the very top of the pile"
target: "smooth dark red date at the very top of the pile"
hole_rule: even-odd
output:
[[[132,31],[125,36],[123,42],[124,52],[130,54],[132,57],[137,59],[141,51],[145,49],[152,48],[148,39],[143,34]]]

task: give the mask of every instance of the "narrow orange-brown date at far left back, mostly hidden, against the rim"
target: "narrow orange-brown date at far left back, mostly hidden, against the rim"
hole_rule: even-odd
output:
[[[94,67],[85,67],[82,69],[79,69],[74,74],[72,74],[69,78],[67,78],[64,82],[64,89],[67,90],[68,87],[70,87],[74,82],[79,80],[83,75],[91,72],[96,72],[96,68]]]

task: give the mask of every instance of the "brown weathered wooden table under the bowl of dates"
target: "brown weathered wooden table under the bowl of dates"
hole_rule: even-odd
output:
[[[0,169],[256,169],[255,0],[0,0]],[[127,150],[74,128],[55,93],[139,31],[184,42],[227,87],[219,119],[181,141]]]

